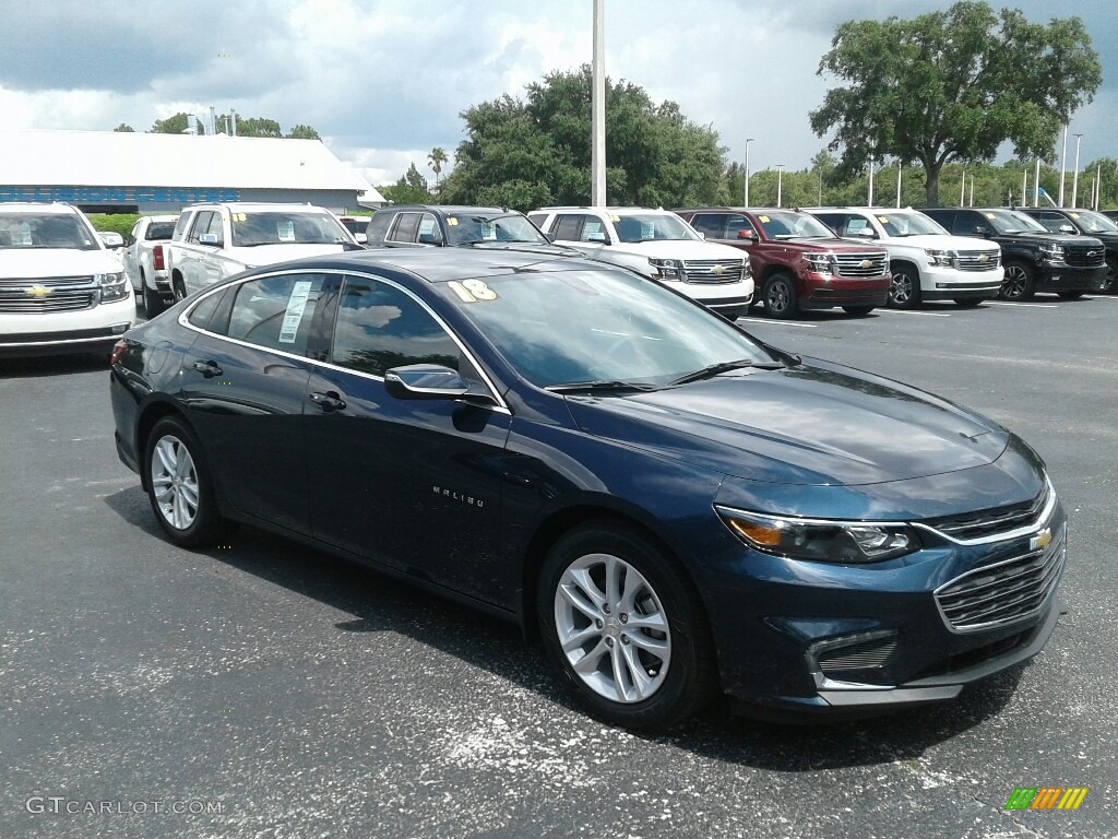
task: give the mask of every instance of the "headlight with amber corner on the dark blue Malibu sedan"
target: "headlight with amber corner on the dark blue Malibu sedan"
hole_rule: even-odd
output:
[[[920,537],[903,521],[840,521],[766,516],[717,507],[730,531],[764,554],[822,563],[861,564],[919,550]]]

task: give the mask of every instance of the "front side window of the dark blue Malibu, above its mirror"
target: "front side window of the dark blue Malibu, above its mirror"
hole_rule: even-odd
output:
[[[458,346],[426,309],[399,289],[366,277],[345,279],[331,357],[376,376],[404,365],[461,368]]]

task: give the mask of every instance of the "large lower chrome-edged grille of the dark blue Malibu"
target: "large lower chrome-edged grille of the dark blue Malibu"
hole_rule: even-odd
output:
[[[1035,614],[1048,602],[1068,555],[1065,530],[1043,550],[968,572],[936,590],[936,604],[956,632],[1002,626]]]

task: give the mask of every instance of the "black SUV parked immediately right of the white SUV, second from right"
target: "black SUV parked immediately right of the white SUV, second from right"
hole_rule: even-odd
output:
[[[928,207],[921,211],[956,236],[987,238],[1002,246],[1003,300],[1029,300],[1038,291],[1073,299],[1106,287],[1106,248],[1099,239],[1051,233],[1006,207]]]

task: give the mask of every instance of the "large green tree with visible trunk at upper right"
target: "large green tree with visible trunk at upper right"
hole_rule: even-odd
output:
[[[1030,23],[1015,9],[995,15],[963,0],[912,20],[841,23],[818,75],[847,83],[811,114],[851,176],[870,157],[919,161],[929,205],[954,160],[993,160],[1010,140],[1026,159],[1048,159],[1071,114],[1102,81],[1098,55],[1079,18]]]

